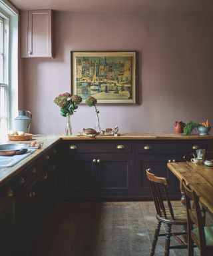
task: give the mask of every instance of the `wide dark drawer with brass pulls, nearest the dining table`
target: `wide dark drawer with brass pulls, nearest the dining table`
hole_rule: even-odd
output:
[[[196,149],[207,149],[207,144],[200,141],[193,141],[190,143],[180,141],[171,143],[136,143],[137,153],[191,153]]]

